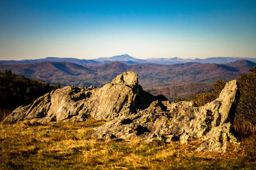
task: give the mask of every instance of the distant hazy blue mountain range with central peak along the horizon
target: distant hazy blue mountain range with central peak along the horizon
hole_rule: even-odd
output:
[[[0,64],[33,64],[36,62],[73,62],[75,64],[82,64],[86,66],[99,66],[109,62],[122,62],[127,65],[134,64],[179,64],[186,62],[199,62],[199,63],[216,63],[216,64],[227,64],[228,62],[235,62],[236,60],[250,60],[251,62],[256,62],[256,59],[248,57],[209,57],[207,59],[181,59],[179,57],[173,58],[150,58],[150,59],[136,59],[130,55],[116,55],[113,57],[101,57],[99,59],[75,59],[75,58],[59,58],[59,57],[46,57],[44,59],[34,59],[34,60],[0,60]]]

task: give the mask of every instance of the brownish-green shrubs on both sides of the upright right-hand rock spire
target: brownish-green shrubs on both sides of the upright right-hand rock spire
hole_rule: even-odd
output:
[[[234,129],[239,134],[240,138],[255,136],[256,132],[256,66],[249,71],[250,73],[243,73],[237,78],[240,99],[236,108]],[[225,80],[217,80],[213,85],[214,90],[212,92],[196,94],[191,100],[198,106],[209,103],[220,95],[225,83]]]

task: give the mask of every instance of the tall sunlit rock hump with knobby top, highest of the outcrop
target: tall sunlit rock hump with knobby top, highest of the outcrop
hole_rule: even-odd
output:
[[[95,118],[128,117],[136,111],[134,100],[139,92],[138,74],[125,72],[93,93],[83,111]]]

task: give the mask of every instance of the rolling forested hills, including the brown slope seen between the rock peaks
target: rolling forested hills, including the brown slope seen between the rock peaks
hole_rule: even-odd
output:
[[[226,64],[186,62],[169,65],[148,63],[129,65],[115,61],[118,59],[120,59],[118,56],[112,57],[111,60],[109,59],[110,62],[96,66],[63,60],[44,62],[29,60],[30,63],[16,61],[16,64],[1,64],[0,71],[10,69],[12,73],[28,78],[78,87],[91,85],[102,87],[116,75],[125,71],[134,71],[139,74],[140,84],[145,90],[154,95],[164,94],[170,99],[204,92],[211,89],[212,83],[218,78],[225,80],[237,78],[241,73],[246,73],[249,68],[256,66],[256,63],[250,60],[236,60]],[[126,59],[130,61],[129,56]],[[95,62],[103,61],[99,59]]]

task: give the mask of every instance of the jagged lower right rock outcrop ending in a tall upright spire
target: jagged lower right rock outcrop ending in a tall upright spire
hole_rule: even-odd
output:
[[[238,97],[237,81],[225,85],[220,97],[205,106],[193,102],[168,103],[155,101],[136,115],[116,118],[95,128],[99,139],[133,139],[188,143],[189,138],[203,139],[198,150],[225,152],[227,141],[236,143],[230,132]]]

